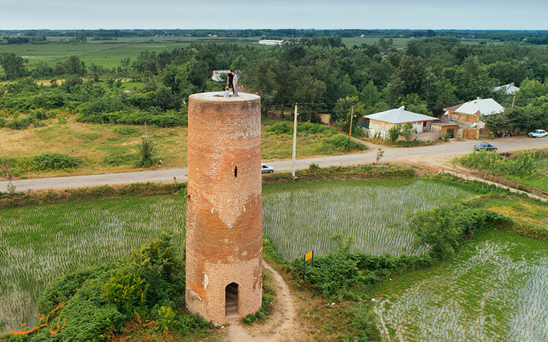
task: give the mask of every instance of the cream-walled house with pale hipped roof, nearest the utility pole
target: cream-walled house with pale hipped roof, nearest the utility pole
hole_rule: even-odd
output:
[[[436,132],[438,136],[434,137],[433,133],[435,132],[430,131],[430,125],[437,121],[437,118],[406,111],[404,106],[366,115],[364,118],[369,119],[369,124],[364,126],[364,130],[369,133],[370,137],[378,135],[382,139],[388,139],[388,129],[397,124],[411,124],[416,129],[417,140],[434,141],[439,137],[439,132]]]

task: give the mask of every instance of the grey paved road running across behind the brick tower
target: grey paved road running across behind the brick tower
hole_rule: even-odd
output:
[[[447,144],[434,146],[422,146],[413,148],[386,148],[382,161],[406,161],[408,163],[427,163],[428,161],[443,161],[456,155],[464,155],[471,152],[476,140],[464,140],[462,142],[450,141]],[[499,148],[499,152],[510,152],[515,150],[527,150],[529,148],[548,148],[548,138],[533,139],[530,137],[507,137],[490,141],[491,144]],[[371,145],[372,150],[368,153],[356,155],[338,155],[333,157],[317,157],[310,159],[298,159],[297,169],[308,168],[311,163],[316,163],[321,167],[325,166],[348,166],[364,163],[373,163],[377,157],[376,148],[379,146]],[[299,151],[297,150],[297,156]],[[290,171],[291,161],[273,161],[269,162],[276,171]],[[25,192],[29,189],[62,189],[74,187],[88,187],[96,185],[115,185],[128,184],[136,182],[173,182],[173,177],[177,177],[178,182],[186,182],[186,168],[153,170],[139,172],[122,172],[116,174],[94,174],[90,176],[66,176],[45,179],[23,179],[14,181],[16,191]],[[8,182],[0,182],[0,189],[5,191]]]

